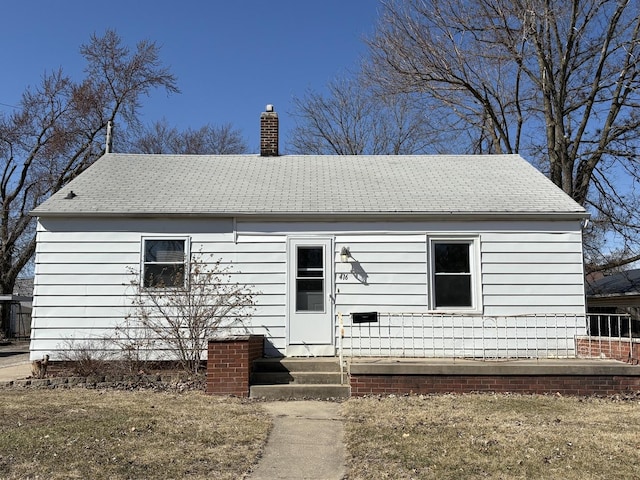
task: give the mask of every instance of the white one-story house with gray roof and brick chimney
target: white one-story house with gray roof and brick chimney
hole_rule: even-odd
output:
[[[587,214],[523,158],[278,156],[277,122],[261,155],[106,154],[36,208],[32,357],[109,334],[130,269],[196,251],[261,292],[268,355],[572,354]]]

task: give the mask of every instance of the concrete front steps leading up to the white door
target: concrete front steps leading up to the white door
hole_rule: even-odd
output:
[[[253,362],[250,398],[327,399],[349,395],[349,384],[341,383],[337,358],[260,358]]]

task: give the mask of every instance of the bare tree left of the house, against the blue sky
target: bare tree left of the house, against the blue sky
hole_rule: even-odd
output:
[[[155,88],[178,92],[162,66],[155,43],[133,51],[107,30],[80,49],[85,78],[75,82],[62,70],[46,73],[22,95],[18,108],[0,114],[0,290],[11,293],[35,251],[29,211],[84,171],[104,153],[107,122],[136,123],[140,98]],[[8,329],[8,312],[1,330]]]

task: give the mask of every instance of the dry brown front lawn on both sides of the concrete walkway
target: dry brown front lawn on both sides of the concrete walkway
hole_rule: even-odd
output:
[[[352,398],[348,478],[640,478],[640,402],[541,395]],[[0,390],[0,478],[239,479],[264,447],[260,402]]]

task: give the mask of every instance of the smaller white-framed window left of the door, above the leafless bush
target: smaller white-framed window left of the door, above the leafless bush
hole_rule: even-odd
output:
[[[185,285],[187,259],[186,238],[143,238],[142,286],[172,288]]]

